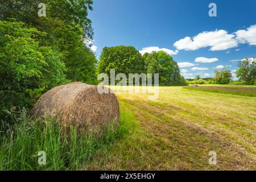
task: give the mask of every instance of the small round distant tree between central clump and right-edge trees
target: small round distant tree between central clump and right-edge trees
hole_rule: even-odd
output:
[[[221,70],[216,69],[214,74],[214,84],[229,84],[232,80],[232,72],[227,67],[224,67]]]

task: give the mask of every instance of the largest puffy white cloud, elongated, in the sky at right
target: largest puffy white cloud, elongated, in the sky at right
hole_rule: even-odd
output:
[[[210,51],[221,51],[237,47],[238,42],[234,39],[235,35],[228,34],[225,30],[201,32],[193,38],[185,37],[174,43],[178,50],[197,50],[199,48],[210,47]]]

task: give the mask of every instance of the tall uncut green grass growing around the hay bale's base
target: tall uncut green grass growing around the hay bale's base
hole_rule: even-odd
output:
[[[129,122],[133,115],[123,112],[117,129],[109,126],[101,137],[77,135],[77,127],[65,135],[54,119],[32,118],[24,109],[9,114],[14,124],[2,123],[0,170],[80,170],[97,152],[127,137],[133,127]],[[39,151],[46,152],[46,165],[38,164]]]

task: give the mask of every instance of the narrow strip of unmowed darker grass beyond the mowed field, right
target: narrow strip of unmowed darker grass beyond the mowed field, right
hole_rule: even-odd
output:
[[[223,86],[223,85],[199,85],[184,86],[184,89],[199,90],[204,92],[215,92],[224,94],[235,94],[240,96],[256,97],[256,86]]]

